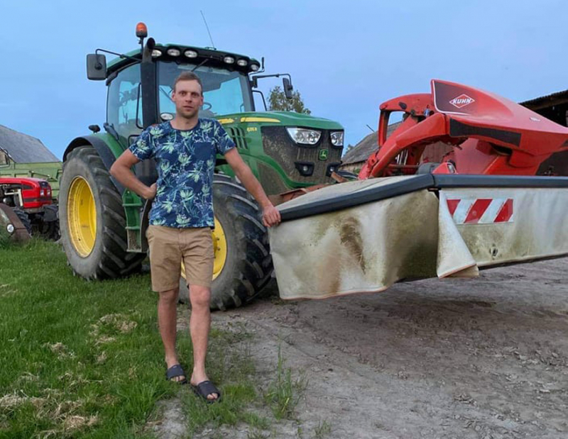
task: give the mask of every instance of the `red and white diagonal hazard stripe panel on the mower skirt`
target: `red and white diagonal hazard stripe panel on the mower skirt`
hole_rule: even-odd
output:
[[[513,223],[512,198],[447,199],[456,224]]]

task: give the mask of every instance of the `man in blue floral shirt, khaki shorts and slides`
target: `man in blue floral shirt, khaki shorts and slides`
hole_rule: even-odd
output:
[[[144,130],[136,143],[114,162],[111,174],[139,196],[155,198],[146,234],[150,246],[152,288],[159,293],[158,324],[165,350],[166,377],[187,382],[175,351],[176,304],[183,258],[192,305],[190,333],[194,364],[190,384],[207,402],[213,402],[219,401],[221,392],[207,377],[205,357],[211,326],[215,155],[224,155],[236,177],[258,201],[263,209],[265,226],[280,223],[280,213],[268,200],[221,124],[199,118],[203,105],[199,77],[192,72],[180,74],[175,80],[172,100],[175,103],[173,121]],[[155,157],[157,162],[158,181],[148,187],[136,178],[131,167],[150,157]]]

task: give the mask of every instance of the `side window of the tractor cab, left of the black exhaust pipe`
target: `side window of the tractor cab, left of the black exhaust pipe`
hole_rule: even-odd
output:
[[[141,133],[142,96],[139,64],[121,70],[109,85],[107,123],[114,127],[119,137],[124,138],[127,144],[131,135]]]

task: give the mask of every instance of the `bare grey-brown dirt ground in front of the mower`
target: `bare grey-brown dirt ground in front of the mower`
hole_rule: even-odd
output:
[[[322,422],[323,438],[568,438],[568,258],[381,294],[261,299],[213,322],[253,333],[259,382],[278,346],[307,378],[298,421],[271,438],[317,437]]]

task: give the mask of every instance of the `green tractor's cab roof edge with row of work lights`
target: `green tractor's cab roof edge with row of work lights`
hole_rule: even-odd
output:
[[[170,55],[170,53],[168,53],[168,50],[170,49],[178,50],[180,55]],[[246,55],[239,55],[238,53],[225,52],[224,50],[217,50],[214,48],[197,48],[195,46],[173,43],[156,43],[154,50],[159,50],[161,52],[161,55],[156,58],[164,61],[182,61],[200,64],[207,60],[207,66],[214,65],[215,67],[224,67],[229,70],[238,70],[246,73],[255,72],[260,68],[260,63],[254,58],[247,57]],[[185,55],[186,52],[190,53],[191,56]],[[130,59],[116,57],[114,58],[114,60],[111,60],[109,62],[109,64],[107,65],[107,72],[109,75],[116,72],[117,70],[120,70],[122,67],[130,65],[133,62],[131,58],[142,60],[140,49],[132,50],[125,55],[130,57]],[[233,59],[233,62],[226,62],[226,57],[231,57]],[[244,62],[246,61],[246,65],[239,65],[239,61],[241,61],[242,64],[244,64]],[[256,70],[254,70],[254,67],[252,67],[253,65],[256,66]]]

